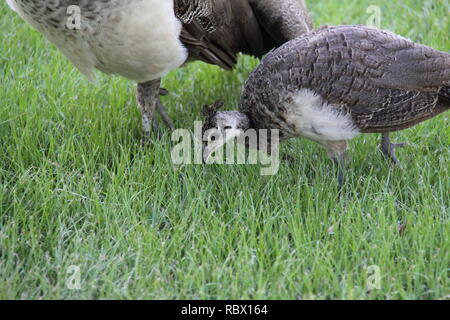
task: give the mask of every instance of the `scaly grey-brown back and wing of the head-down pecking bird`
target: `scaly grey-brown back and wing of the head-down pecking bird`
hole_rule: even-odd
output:
[[[363,26],[317,30],[266,59],[261,69],[278,74],[279,86],[310,88],[367,130],[422,118],[450,82],[449,54]]]

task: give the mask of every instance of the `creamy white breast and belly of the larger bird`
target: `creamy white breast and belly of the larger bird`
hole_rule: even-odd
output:
[[[66,28],[69,15],[62,1],[53,2],[56,7],[51,13],[44,12],[59,20],[57,28],[27,15],[14,3],[26,6],[27,2],[7,1],[89,78],[99,69],[138,82],[150,81],[179,67],[188,56],[179,39],[182,26],[175,17],[173,0],[98,1],[98,12],[81,8],[79,30]]]

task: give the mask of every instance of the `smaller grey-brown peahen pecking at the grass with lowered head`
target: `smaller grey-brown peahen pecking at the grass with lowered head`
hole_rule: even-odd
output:
[[[448,53],[365,26],[324,27],[269,53],[245,84],[240,113],[210,112],[203,130],[279,129],[281,139],[320,143],[342,169],[359,133],[382,133],[382,151],[397,163],[405,144],[389,132],[449,108]]]

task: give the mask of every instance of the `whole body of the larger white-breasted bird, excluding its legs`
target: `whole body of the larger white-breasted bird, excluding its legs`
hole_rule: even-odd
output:
[[[145,17],[154,17],[148,13],[152,11],[151,7],[143,4],[150,3],[156,7],[158,2],[170,3],[174,17],[183,25],[179,31],[173,23],[168,25],[157,21],[155,24],[145,20]],[[230,69],[236,63],[238,53],[261,57],[312,27],[304,0],[8,0],[8,3],[54,42],[86,75],[90,76],[96,68],[142,82],[156,79],[183,62],[183,52],[176,52],[182,51],[182,48],[175,48],[172,43],[172,47],[165,50],[162,56],[169,55],[170,58],[171,54],[174,55],[173,66],[164,65],[161,68],[163,71],[154,75],[146,72],[145,64],[158,63],[153,61],[157,56],[148,54],[147,48],[144,48],[147,51],[140,51],[139,46],[146,41],[163,40],[150,31],[155,28],[154,33],[160,32],[166,39],[170,37],[163,32],[167,33],[168,27],[173,28],[171,36],[176,39],[172,41],[180,37],[189,50],[191,60],[202,60]],[[69,18],[67,8],[72,5],[80,8],[80,30],[70,30],[66,26]],[[127,13],[132,13],[132,18]],[[160,14],[158,20],[163,17]],[[143,21],[135,22],[138,19]],[[129,30],[121,30],[124,29],[124,21],[132,21]],[[269,26],[258,21],[267,22]],[[123,47],[132,53],[127,57],[115,56]],[[176,56],[174,51],[178,53]],[[140,52],[147,52],[148,59],[134,59],[133,54],[139,55]],[[120,62],[116,61],[119,59]],[[132,60],[131,63],[127,64],[128,60]],[[167,64],[165,60],[164,63]]]

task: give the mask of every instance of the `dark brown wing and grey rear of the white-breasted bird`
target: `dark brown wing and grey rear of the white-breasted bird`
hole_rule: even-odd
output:
[[[191,60],[231,69],[312,29],[304,0],[175,0]]]

